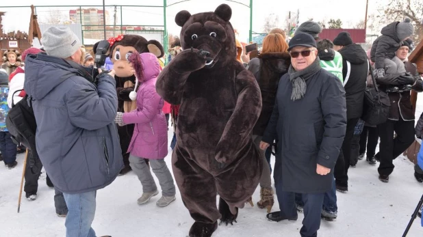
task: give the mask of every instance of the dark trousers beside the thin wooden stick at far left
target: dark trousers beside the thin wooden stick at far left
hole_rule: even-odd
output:
[[[40,178],[42,164],[40,158],[33,156],[31,151],[28,151],[27,165],[25,167],[25,186],[23,190],[26,197],[36,194],[38,191],[38,178]]]

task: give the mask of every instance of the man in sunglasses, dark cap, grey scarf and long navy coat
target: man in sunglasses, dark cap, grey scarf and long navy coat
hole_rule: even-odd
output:
[[[307,33],[292,38],[291,66],[279,81],[272,116],[260,143],[268,148],[276,134],[281,148],[274,166],[278,212],[270,221],[296,221],[295,193],[304,201],[303,237],[317,236],[324,193],[333,186],[333,167],[346,130],[341,81],[320,67],[316,41]]]

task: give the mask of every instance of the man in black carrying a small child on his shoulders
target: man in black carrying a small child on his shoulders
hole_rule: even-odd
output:
[[[379,153],[376,160],[379,165],[379,180],[389,182],[389,175],[394,171],[394,159],[407,150],[414,141],[414,111],[410,100],[410,91],[422,92],[422,79],[417,72],[415,64],[407,61],[409,49],[413,44],[407,40],[402,42],[402,46],[396,51],[396,57],[404,61],[406,71],[404,74],[385,74],[383,78],[376,78],[376,83],[383,92],[387,92],[391,107],[389,109],[388,120],[378,125]],[[394,139],[394,132],[396,137]]]

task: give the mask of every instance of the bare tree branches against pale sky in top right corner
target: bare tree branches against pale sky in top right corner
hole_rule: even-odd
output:
[[[389,3],[380,3],[379,18],[391,23],[393,21],[402,21],[405,17],[411,19],[414,25],[415,44],[418,44],[423,38],[423,4],[422,0],[389,0]]]

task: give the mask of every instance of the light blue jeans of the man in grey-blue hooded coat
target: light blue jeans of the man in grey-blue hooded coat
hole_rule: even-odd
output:
[[[66,216],[66,237],[95,237],[91,224],[94,221],[97,191],[88,193],[63,193],[68,215]]]

